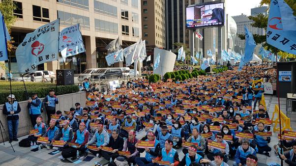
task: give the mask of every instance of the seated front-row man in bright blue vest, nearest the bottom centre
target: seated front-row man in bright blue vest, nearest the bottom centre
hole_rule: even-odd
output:
[[[147,166],[160,166],[155,161],[170,162],[170,166],[178,166],[180,163],[179,155],[177,150],[173,148],[173,141],[171,139],[165,141],[165,147],[161,149],[156,158],[152,159],[152,163],[149,163]]]

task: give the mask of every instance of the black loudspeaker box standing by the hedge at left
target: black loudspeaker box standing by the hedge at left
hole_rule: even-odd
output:
[[[74,84],[74,70],[62,69],[57,71],[57,85],[72,85]]]

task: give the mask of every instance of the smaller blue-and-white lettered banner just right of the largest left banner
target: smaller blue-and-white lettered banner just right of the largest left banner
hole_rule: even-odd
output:
[[[62,50],[66,49],[66,52]],[[59,52],[66,61],[66,57],[84,53],[85,47],[80,32],[80,25],[64,28],[59,35]]]

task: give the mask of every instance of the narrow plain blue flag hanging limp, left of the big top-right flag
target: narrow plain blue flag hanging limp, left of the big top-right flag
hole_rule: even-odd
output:
[[[256,43],[253,38],[253,34],[248,30],[246,26],[244,26],[245,30],[245,38],[246,38],[246,45],[244,51],[244,64],[248,63],[253,59],[254,49],[256,47]]]

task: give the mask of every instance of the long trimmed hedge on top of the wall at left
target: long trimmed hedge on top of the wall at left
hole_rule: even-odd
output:
[[[56,90],[54,83],[25,83],[28,95],[25,91],[23,82],[11,82],[12,94],[15,95],[17,101],[26,101],[32,92],[36,92],[39,98],[48,95],[50,89]],[[10,94],[9,82],[0,82],[0,104],[7,102],[6,97]],[[74,85],[57,86],[56,95],[69,94],[79,92],[79,87]]]

